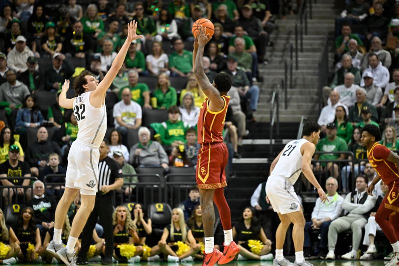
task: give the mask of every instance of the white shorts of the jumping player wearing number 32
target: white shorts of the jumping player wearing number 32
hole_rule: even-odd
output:
[[[65,187],[79,189],[83,195],[96,195],[99,157],[95,145],[74,141],[68,154]]]

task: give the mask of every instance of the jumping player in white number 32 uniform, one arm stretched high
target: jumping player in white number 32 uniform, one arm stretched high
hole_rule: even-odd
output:
[[[55,211],[54,237],[47,247],[47,252],[62,260],[67,266],[76,266],[73,250],[94,207],[98,185],[99,147],[107,129],[105,93],[121,69],[130,43],[143,37],[136,34],[136,28],[137,22],[134,20],[128,23],[126,41],[100,83],[89,71],[83,71],[73,81],[76,97],[66,98],[69,80],[65,80],[59,95],[59,105],[63,108],[73,109],[79,132],[69,150],[65,191]],[[66,248],[63,248],[62,226],[69,206],[79,193],[82,200],[81,206],[73,219]]]

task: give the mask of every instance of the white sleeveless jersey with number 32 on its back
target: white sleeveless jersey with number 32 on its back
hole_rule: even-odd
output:
[[[76,97],[73,112],[78,122],[76,141],[100,147],[107,131],[107,110],[105,104],[96,108],[90,104],[91,91]]]

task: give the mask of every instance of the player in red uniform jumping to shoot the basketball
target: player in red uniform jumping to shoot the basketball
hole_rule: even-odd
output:
[[[213,84],[210,84],[206,77],[203,71],[203,50],[210,38],[209,34],[205,35],[205,28],[200,27],[200,32],[194,41],[193,51],[194,75],[207,97],[201,105],[198,118],[198,142],[201,144],[201,149],[196,169],[205,235],[203,266],[211,266],[217,262],[219,265],[226,264],[234,259],[234,256],[239,252],[239,248],[233,241],[230,208],[223,194],[223,187],[227,186],[224,168],[227,164],[228,153],[227,147],[223,143],[222,130],[230,100],[226,93],[231,87],[232,80],[224,72],[216,74]],[[215,215],[213,202],[219,211],[224,231],[223,254],[214,248],[213,225]]]

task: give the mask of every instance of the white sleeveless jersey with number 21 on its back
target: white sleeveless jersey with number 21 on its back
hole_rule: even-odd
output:
[[[301,154],[301,147],[306,142],[309,141],[306,139],[298,139],[288,142],[271,174],[283,176],[294,185],[299,175],[302,173],[301,166],[303,156]]]

